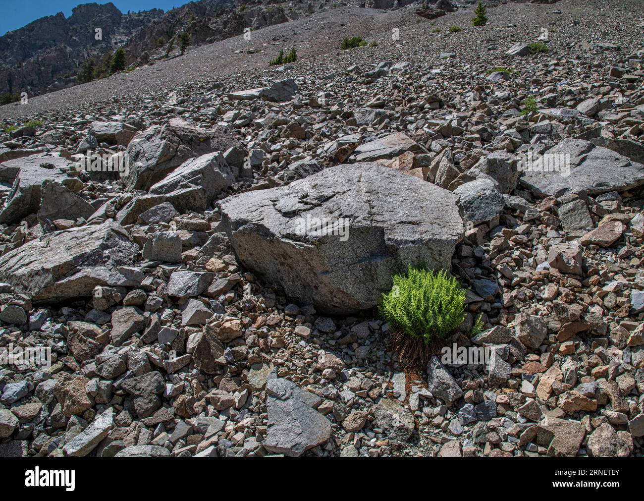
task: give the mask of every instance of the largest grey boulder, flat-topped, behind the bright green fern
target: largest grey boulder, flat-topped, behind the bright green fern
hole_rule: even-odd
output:
[[[424,260],[450,269],[464,227],[458,196],[413,176],[358,163],[220,202],[248,269],[329,314],[372,308],[392,275]]]

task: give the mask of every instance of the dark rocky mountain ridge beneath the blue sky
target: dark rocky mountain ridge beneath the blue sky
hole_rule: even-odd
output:
[[[258,30],[315,10],[302,0],[285,5],[200,0],[166,13],[153,9],[128,14],[112,3],[79,5],[69,18],[62,13],[43,17],[0,37],[0,94],[26,92],[33,97],[79,84],[82,62],[100,62],[118,47],[125,49],[128,65],[139,66],[176,55],[178,43],[173,41],[169,51],[167,46],[180,31],[190,33],[191,44],[198,46],[239,35],[244,28]]]

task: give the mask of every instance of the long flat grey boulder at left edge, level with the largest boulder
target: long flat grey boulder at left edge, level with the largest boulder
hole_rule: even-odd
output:
[[[138,246],[114,223],[48,233],[0,257],[0,282],[34,302],[90,296],[109,270],[132,264]]]

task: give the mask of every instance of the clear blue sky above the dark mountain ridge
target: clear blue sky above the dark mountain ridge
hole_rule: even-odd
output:
[[[118,10],[127,14],[128,10],[150,10],[160,8],[169,10],[180,7],[190,0],[111,0]],[[82,3],[109,3],[109,0],[2,0],[0,2],[2,15],[0,16],[0,36],[22,28],[36,19],[46,15],[55,15],[62,12],[65,17],[70,17],[71,9]]]

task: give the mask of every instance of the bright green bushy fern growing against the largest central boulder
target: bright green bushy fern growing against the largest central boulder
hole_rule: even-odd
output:
[[[394,328],[428,345],[463,322],[465,292],[444,270],[410,266],[406,274],[393,276],[393,288],[383,294],[379,309]]]

